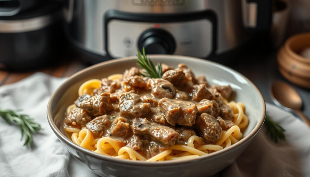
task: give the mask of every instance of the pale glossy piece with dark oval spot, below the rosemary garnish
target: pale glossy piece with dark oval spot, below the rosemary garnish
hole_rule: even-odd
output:
[[[176,92],[173,84],[164,79],[149,79],[146,87],[151,88],[156,98],[173,98]]]

